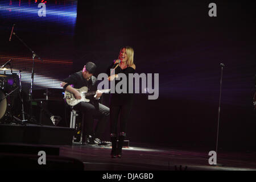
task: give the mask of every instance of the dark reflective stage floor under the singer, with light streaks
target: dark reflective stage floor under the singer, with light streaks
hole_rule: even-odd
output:
[[[79,159],[85,171],[256,171],[256,152],[218,152],[217,166],[208,163],[209,151],[177,150],[130,144],[121,159],[110,157],[111,147],[60,146],[60,156]],[[180,168],[181,166],[181,168]]]

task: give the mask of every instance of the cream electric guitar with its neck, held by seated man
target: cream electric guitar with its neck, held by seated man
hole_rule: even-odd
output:
[[[82,97],[81,99],[76,99],[75,94],[65,90],[64,99],[66,100],[67,104],[70,105],[70,106],[75,106],[75,105],[79,104],[80,102],[89,102],[90,100],[88,98],[85,98],[85,97],[96,94],[96,91],[88,92],[87,86],[83,86],[80,89],[76,89],[76,90],[79,91],[79,93]],[[108,92],[110,92],[110,89],[104,89],[104,90],[100,90],[100,91],[102,93],[108,93]]]

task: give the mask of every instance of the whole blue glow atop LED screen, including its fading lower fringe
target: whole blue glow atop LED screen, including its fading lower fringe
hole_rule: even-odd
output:
[[[77,1],[0,1],[0,18],[10,23],[33,23],[32,26],[40,29],[43,29],[43,26],[66,27],[60,31],[73,35],[76,17]]]

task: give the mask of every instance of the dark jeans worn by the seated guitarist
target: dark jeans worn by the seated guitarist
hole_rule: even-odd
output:
[[[85,139],[85,135],[92,135],[94,138],[100,138],[106,129],[106,123],[109,118],[109,107],[106,107],[100,103],[91,104],[90,102],[80,102],[74,109],[82,111],[84,115],[84,134],[82,140]],[[97,118],[98,122],[93,128],[93,119]]]

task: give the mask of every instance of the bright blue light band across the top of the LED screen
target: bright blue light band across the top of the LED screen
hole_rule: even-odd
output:
[[[39,16],[39,3],[28,3],[1,0],[0,18],[22,19],[26,22],[52,22],[75,27],[77,16],[77,1],[67,1],[65,5],[46,3],[46,16]]]

